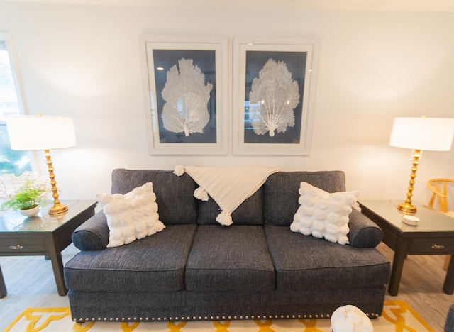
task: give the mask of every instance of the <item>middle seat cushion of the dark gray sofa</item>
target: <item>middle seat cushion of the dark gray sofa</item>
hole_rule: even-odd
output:
[[[263,227],[200,225],[185,283],[187,290],[200,292],[275,289],[275,269]]]

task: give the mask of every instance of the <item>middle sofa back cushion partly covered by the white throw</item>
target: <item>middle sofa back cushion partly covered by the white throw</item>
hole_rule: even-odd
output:
[[[201,225],[218,225],[216,217],[221,208],[216,201],[209,197],[208,201],[199,202],[199,220]],[[235,211],[232,212],[235,225],[262,225],[263,224],[263,188],[245,199]]]

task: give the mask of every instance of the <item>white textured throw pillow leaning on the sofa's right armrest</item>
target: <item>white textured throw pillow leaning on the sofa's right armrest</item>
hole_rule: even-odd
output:
[[[348,243],[348,215],[358,192],[330,194],[309,183],[301,182],[299,208],[290,229],[306,236],[326,238],[341,245]]]

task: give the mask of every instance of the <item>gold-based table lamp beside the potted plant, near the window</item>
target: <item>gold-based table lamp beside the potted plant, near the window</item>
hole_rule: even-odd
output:
[[[54,206],[49,209],[49,214],[61,214],[68,210],[60,204],[55,181],[52,155],[50,150],[70,148],[76,145],[74,123],[67,116],[6,116],[11,149],[13,150],[44,150],[46,164],[52,186]]]

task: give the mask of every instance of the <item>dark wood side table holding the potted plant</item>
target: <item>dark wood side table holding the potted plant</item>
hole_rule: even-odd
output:
[[[94,215],[96,201],[62,201],[70,209],[48,214],[42,208],[38,216],[27,218],[17,211],[0,216],[0,256],[45,255],[52,262],[58,294],[68,292],[63,275],[62,250],[71,244],[74,229]],[[0,298],[6,287],[0,270]]]

